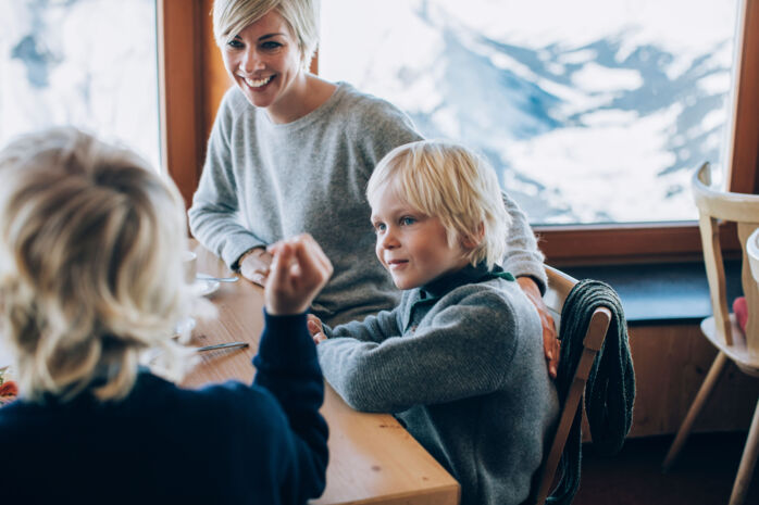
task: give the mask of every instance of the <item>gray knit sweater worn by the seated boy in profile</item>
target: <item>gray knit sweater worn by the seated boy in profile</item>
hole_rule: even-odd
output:
[[[326,380],[358,411],[395,413],[459,481],[462,505],[526,500],[559,407],[517,282],[466,267],[325,333]]]

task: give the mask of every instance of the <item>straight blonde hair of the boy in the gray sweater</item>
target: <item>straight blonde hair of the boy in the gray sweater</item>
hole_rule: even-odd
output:
[[[506,212],[498,177],[481,156],[463,146],[421,140],[400,146],[383,157],[366,186],[370,203],[377,191],[393,189],[416,211],[438,217],[448,244],[469,240],[472,265],[488,268],[500,263],[507,250],[511,217]]]

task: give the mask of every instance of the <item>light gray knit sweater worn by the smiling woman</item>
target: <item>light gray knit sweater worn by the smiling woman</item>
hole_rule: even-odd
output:
[[[189,210],[192,235],[236,268],[246,251],[308,231],[335,267],[314,302],[316,315],[339,324],[393,308],[400,293],[374,255],[364,191],[385,154],[420,139],[406,114],[347,84],[287,124],[272,123],[234,87],[209,139]],[[545,286],[527,220],[513,201],[505,201],[512,216],[505,267]]]

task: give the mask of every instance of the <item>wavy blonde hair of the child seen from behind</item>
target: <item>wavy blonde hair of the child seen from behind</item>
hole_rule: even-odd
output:
[[[150,348],[183,368],[171,336],[190,300],[173,184],[74,128],[10,143],[0,177],[0,338],[22,394],[123,397]]]

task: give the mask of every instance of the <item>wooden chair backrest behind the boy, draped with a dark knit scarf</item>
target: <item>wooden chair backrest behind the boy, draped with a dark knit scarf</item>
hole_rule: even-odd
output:
[[[550,266],[546,266],[546,274],[548,275],[548,288],[546,289],[543,300],[553,313],[553,319],[557,325],[559,325],[561,308],[564,306],[567,296],[577,281]],[[544,456],[543,464],[538,469],[537,479],[535,480],[535,490],[531,493],[532,504],[543,505],[551,491],[556,469],[559,466],[559,459],[564,450],[564,444],[567,443],[567,438],[572,427],[572,420],[574,419],[577,408],[581,406],[581,399],[585,391],[585,383],[587,382],[593,361],[601,349],[610,320],[611,312],[606,307],[596,308],[590,317],[583,339],[583,355],[577,363],[577,368],[574,371],[567,399],[563,405],[561,405],[556,433],[550,441],[548,452]],[[559,336],[559,338],[561,338],[561,336]]]

